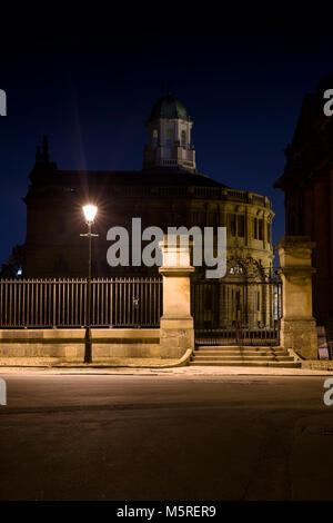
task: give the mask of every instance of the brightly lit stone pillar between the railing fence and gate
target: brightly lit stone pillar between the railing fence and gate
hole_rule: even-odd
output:
[[[169,238],[170,239],[170,238]],[[194,325],[191,316],[190,247],[178,241],[160,244],[163,266],[163,316],[160,323],[160,351],[163,358],[180,358],[194,349]]]

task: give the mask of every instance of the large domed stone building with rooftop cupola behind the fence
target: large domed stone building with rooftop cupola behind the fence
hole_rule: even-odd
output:
[[[38,148],[31,184],[24,198],[27,237],[24,277],[84,277],[87,245],[82,205],[99,207],[94,231],[93,276],[157,275],[152,267],[117,267],[107,263],[112,226],[131,228],[133,217],[142,218],[142,228],[168,226],[225,226],[228,230],[228,275],[219,298],[225,304],[224,320],[238,319],[239,312],[249,323],[264,320],[264,304],[272,297],[253,287],[244,290],[249,279],[261,282],[272,272],[272,219],[274,213],[265,196],[232,189],[196,170],[195,149],[191,140],[192,119],[184,105],[168,92],[151,111],[147,121],[148,142],[143,168],[137,171],[69,171],[50,160],[48,141]],[[196,270],[196,278],[203,272]],[[211,295],[211,293],[209,293]],[[221,294],[221,293],[220,293]],[[209,297],[208,297],[209,298]],[[212,299],[212,297],[210,297]],[[271,305],[269,305],[270,307]],[[209,303],[206,314],[209,320]]]

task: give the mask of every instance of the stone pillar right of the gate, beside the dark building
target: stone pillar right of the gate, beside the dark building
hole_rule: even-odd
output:
[[[314,247],[309,236],[284,236],[276,247],[282,278],[281,345],[310,359],[317,358],[316,325],[312,316]]]

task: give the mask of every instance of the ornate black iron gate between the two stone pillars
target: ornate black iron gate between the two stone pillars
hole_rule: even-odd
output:
[[[281,280],[192,283],[198,345],[279,345]]]

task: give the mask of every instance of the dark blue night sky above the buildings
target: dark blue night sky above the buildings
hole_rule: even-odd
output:
[[[91,7],[84,19],[64,22],[50,6],[38,17],[28,12],[29,22],[21,12],[0,36],[0,89],[8,96],[8,116],[0,117],[0,264],[24,241],[22,197],[42,136],[60,169],[141,169],[144,121],[168,81],[194,120],[199,171],[269,196],[276,244],[284,208],[272,184],[284,168],[283,149],[304,95],[333,70],[325,17],[212,10],[180,20],[155,11],[148,23],[128,4],[130,18]]]

